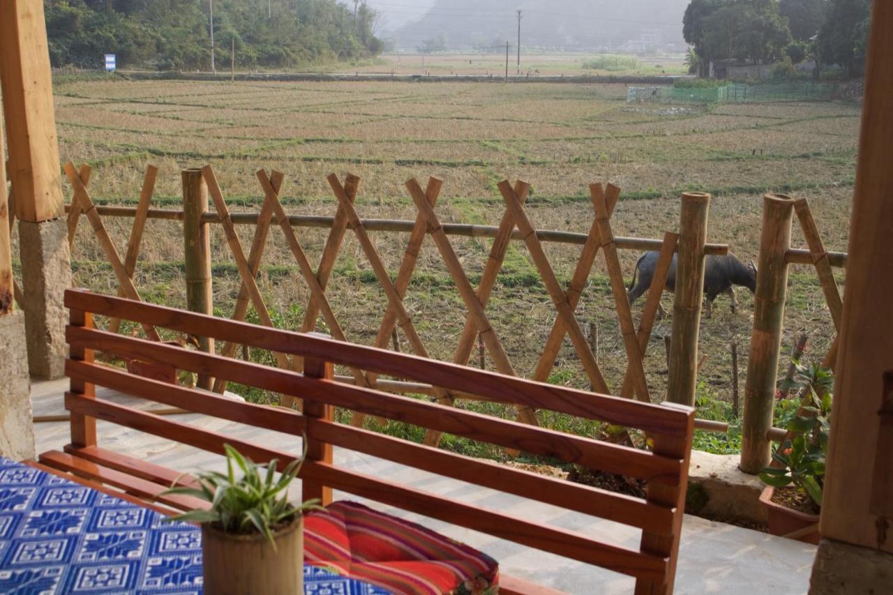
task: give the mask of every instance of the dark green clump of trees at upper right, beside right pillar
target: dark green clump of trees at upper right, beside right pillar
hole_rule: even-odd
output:
[[[753,63],[814,60],[861,74],[871,0],[692,0],[683,36],[692,71],[716,60]]]

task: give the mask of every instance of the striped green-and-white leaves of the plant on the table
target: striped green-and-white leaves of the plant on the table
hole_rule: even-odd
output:
[[[258,465],[229,444],[223,448],[227,456],[227,473],[197,473],[197,488],[173,487],[165,492],[193,496],[210,502],[211,507],[191,510],[167,520],[211,524],[222,532],[238,535],[258,532],[275,549],[273,533],[278,528],[288,525],[306,510],[319,508],[317,500],[308,500],[299,506],[288,502],[288,485],[296,478],[304,457],[288,464],[277,478],[277,459],[268,465]],[[240,476],[237,476],[237,469]]]

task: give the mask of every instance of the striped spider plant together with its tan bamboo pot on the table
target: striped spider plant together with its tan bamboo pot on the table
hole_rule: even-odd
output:
[[[224,445],[227,473],[196,473],[197,487],[174,487],[211,504],[171,517],[202,525],[204,592],[298,595],[304,593],[304,532],[310,500],[288,502],[288,485],[304,457],[286,466],[277,477],[277,463],[257,465]]]

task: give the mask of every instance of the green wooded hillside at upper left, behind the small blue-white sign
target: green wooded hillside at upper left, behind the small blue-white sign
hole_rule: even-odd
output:
[[[208,0],[44,0],[54,66],[210,70]],[[269,11],[269,13],[268,13]],[[238,67],[293,68],[379,54],[377,13],[365,2],[215,0],[214,54]]]

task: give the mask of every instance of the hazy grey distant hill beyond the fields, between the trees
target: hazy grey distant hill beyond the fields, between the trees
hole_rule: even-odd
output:
[[[512,45],[522,11],[522,46],[635,50],[684,48],[682,15],[689,0],[437,0],[419,21],[395,32],[397,46],[443,49]],[[443,36],[442,38],[440,36]],[[429,43],[426,44],[425,42]]]

